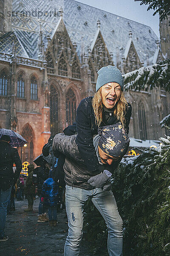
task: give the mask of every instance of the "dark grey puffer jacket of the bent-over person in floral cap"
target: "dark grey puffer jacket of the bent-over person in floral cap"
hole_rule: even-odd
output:
[[[106,169],[106,166],[108,165],[100,165],[101,168],[99,170],[96,172],[90,172],[85,166],[84,160],[79,153],[76,144],[76,136],[77,135],[68,136],[63,133],[56,134],[53,140],[53,152],[55,155],[56,153],[58,154],[59,151],[66,156],[65,163],[63,165],[65,183],[68,186],[91,190],[94,189],[94,187],[89,185],[87,181],[92,176],[95,176]]]

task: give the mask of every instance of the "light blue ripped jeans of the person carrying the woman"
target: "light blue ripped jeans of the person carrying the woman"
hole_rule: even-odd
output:
[[[86,190],[67,185],[65,207],[68,217],[68,236],[65,241],[64,256],[79,256],[79,244],[83,234],[83,207],[89,197],[108,227],[109,256],[122,256],[123,223],[113,193],[103,191],[101,188]]]

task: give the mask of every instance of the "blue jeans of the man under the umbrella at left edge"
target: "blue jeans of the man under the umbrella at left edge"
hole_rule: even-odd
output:
[[[0,238],[4,237],[7,205],[11,195],[11,187],[5,191],[0,190]]]

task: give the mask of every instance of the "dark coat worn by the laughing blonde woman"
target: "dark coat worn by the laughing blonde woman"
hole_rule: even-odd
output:
[[[96,156],[96,151],[93,145],[93,135],[97,134],[98,126],[95,122],[94,109],[92,107],[93,97],[87,97],[82,99],[78,108],[76,116],[76,125],[77,125],[77,138],[76,144],[78,146],[79,152],[85,161],[90,172],[94,172],[99,168],[99,161]],[[129,122],[132,112],[132,107],[128,103],[128,108],[125,111],[125,129],[127,134],[129,132]],[[104,116],[102,117],[104,120]],[[115,116],[111,116],[109,122],[101,123],[100,126],[114,125],[119,120]]]

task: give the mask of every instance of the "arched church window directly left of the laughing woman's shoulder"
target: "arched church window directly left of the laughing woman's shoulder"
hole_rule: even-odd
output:
[[[66,122],[72,125],[76,121],[76,96],[70,88],[66,93]]]

